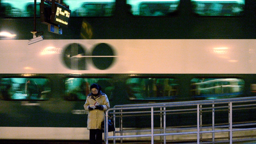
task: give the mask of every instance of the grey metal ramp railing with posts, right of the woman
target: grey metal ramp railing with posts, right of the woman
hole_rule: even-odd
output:
[[[177,141],[190,141],[190,143],[218,143],[218,142],[229,142],[232,144],[233,141],[246,141],[256,140],[256,135],[237,135],[233,136],[233,132],[242,131],[255,131],[256,122],[255,117],[250,121],[239,121],[233,122],[233,113],[236,116],[249,113],[256,109],[256,97],[247,98],[233,98],[233,99],[219,99],[219,100],[202,100],[202,101],[188,101],[188,102],[168,102],[168,103],[150,103],[150,104],[131,104],[131,105],[116,105],[114,108],[110,108],[106,111],[105,122],[108,120],[108,113],[111,113],[116,125],[116,119],[119,118],[119,131],[113,132],[113,136],[109,136],[108,132],[104,133],[106,144],[108,140],[113,139],[113,143],[116,143],[116,139],[120,139],[123,143],[124,138],[143,138],[151,137],[151,143],[158,141],[166,144],[166,136],[181,136],[191,137],[188,140],[177,140]],[[215,117],[218,115],[225,114],[228,117],[227,123],[215,123]],[[203,124],[205,121],[209,121],[209,113],[212,113],[212,123]],[[194,114],[194,115],[193,115]],[[208,114],[208,115],[207,115]],[[186,117],[181,120],[181,124],[177,126],[166,126],[170,124],[173,119],[166,118],[167,115],[185,115],[187,118],[195,119],[195,125],[182,124],[186,122]],[[254,114],[252,114],[254,115]],[[131,120],[134,117],[143,116],[145,122],[151,122],[151,126],[147,128],[125,128],[123,125],[124,117],[130,117]],[[150,117],[149,117],[150,116]],[[154,117],[155,116],[155,117]],[[156,116],[159,117],[159,125],[156,125]],[[192,117],[191,117],[192,116]],[[250,115],[246,115],[250,116]],[[225,116],[223,116],[225,117]],[[148,120],[146,119],[148,118]],[[242,117],[243,118],[243,117]],[[253,121],[254,120],[254,121]],[[167,123],[168,122],[168,123]],[[127,123],[127,122],[126,122]],[[139,123],[139,122],[138,122]],[[155,124],[155,125],[154,125]],[[158,123],[157,123],[158,124]],[[108,126],[105,124],[105,130],[108,131]],[[204,134],[211,138],[203,138]],[[216,133],[228,133],[228,136],[216,137]],[[125,135],[124,135],[125,134]],[[248,138],[247,138],[248,137]],[[234,139],[234,140],[233,140]],[[173,141],[173,140],[172,140]]]

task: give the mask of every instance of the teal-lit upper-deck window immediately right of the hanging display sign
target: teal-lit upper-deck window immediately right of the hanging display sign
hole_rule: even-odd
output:
[[[104,17],[112,16],[115,11],[115,0],[63,0],[69,5],[70,16]]]

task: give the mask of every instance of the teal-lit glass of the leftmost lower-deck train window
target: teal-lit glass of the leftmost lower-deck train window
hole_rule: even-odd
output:
[[[0,89],[3,100],[45,100],[51,92],[46,78],[2,78]]]

